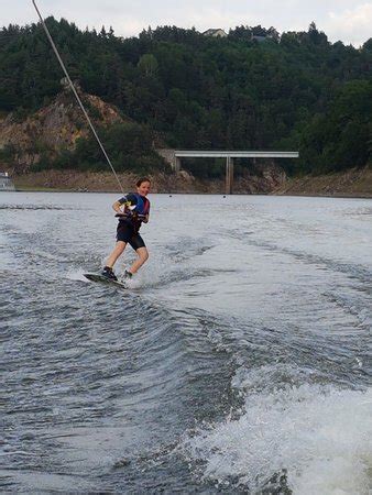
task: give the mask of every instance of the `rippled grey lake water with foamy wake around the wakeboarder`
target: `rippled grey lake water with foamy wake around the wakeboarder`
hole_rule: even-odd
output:
[[[121,290],[114,199],[0,196],[1,491],[368,494],[372,202],[153,195]]]

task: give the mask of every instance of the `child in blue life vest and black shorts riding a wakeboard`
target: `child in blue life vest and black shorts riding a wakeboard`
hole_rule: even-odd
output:
[[[102,275],[113,280],[117,280],[118,277],[113,273],[112,267],[124,252],[127,244],[133,248],[138,258],[129,270],[125,270],[124,278],[131,278],[149,258],[147,249],[139,231],[142,222],[149,222],[150,201],[146,196],[150,193],[151,183],[147,177],[144,177],[138,180],[135,186],[136,193],[130,193],[112,205],[113,210],[117,212],[116,217],[119,218],[117,244],[107,260]]]

